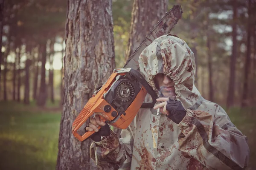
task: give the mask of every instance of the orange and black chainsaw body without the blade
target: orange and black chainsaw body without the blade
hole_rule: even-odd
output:
[[[87,131],[83,135],[77,132],[94,113],[99,114],[102,121],[109,123],[113,127],[125,129],[130,125],[143,104],[147,94],[146,88],[148,88],[140,84],[140,80],[137,80],[136,77],[131,76],[129,71],[127,72],[130,69],[113,71],[107,82],[95,92],[76,117],[72,125],[72,133],[79,141],[84,141],[95,132]],[[129,79],[131,77],[134,79],[133,82]],[[140,76],[139,78],[142,77]],[[115,83],[119,85],[115,87]],[[117,92],[115,93],[115,91]],[[126,106],[123,107],[123,105]]]

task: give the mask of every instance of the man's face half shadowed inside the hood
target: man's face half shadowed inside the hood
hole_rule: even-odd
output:
[[[174,82],[165,74],[157,74],[154,77],[154,82],[156,84],[157,89],[162,92],[164,97],[176,96]]]

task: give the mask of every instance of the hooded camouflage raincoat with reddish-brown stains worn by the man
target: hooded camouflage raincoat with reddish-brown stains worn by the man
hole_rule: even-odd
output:
[[[164,35],[140,54],[140,71],[156,91],[154,76],[163,73],[175,82],[176,98],[186,109],[177,125],[164,114],[140,109],[121,138],[111,131],[93,142],[90,157],[102,169],[194,170],[247,166],[249,147],[244,136],[217,104],[205,100],[194,85],[194,54],[184,40]]]

